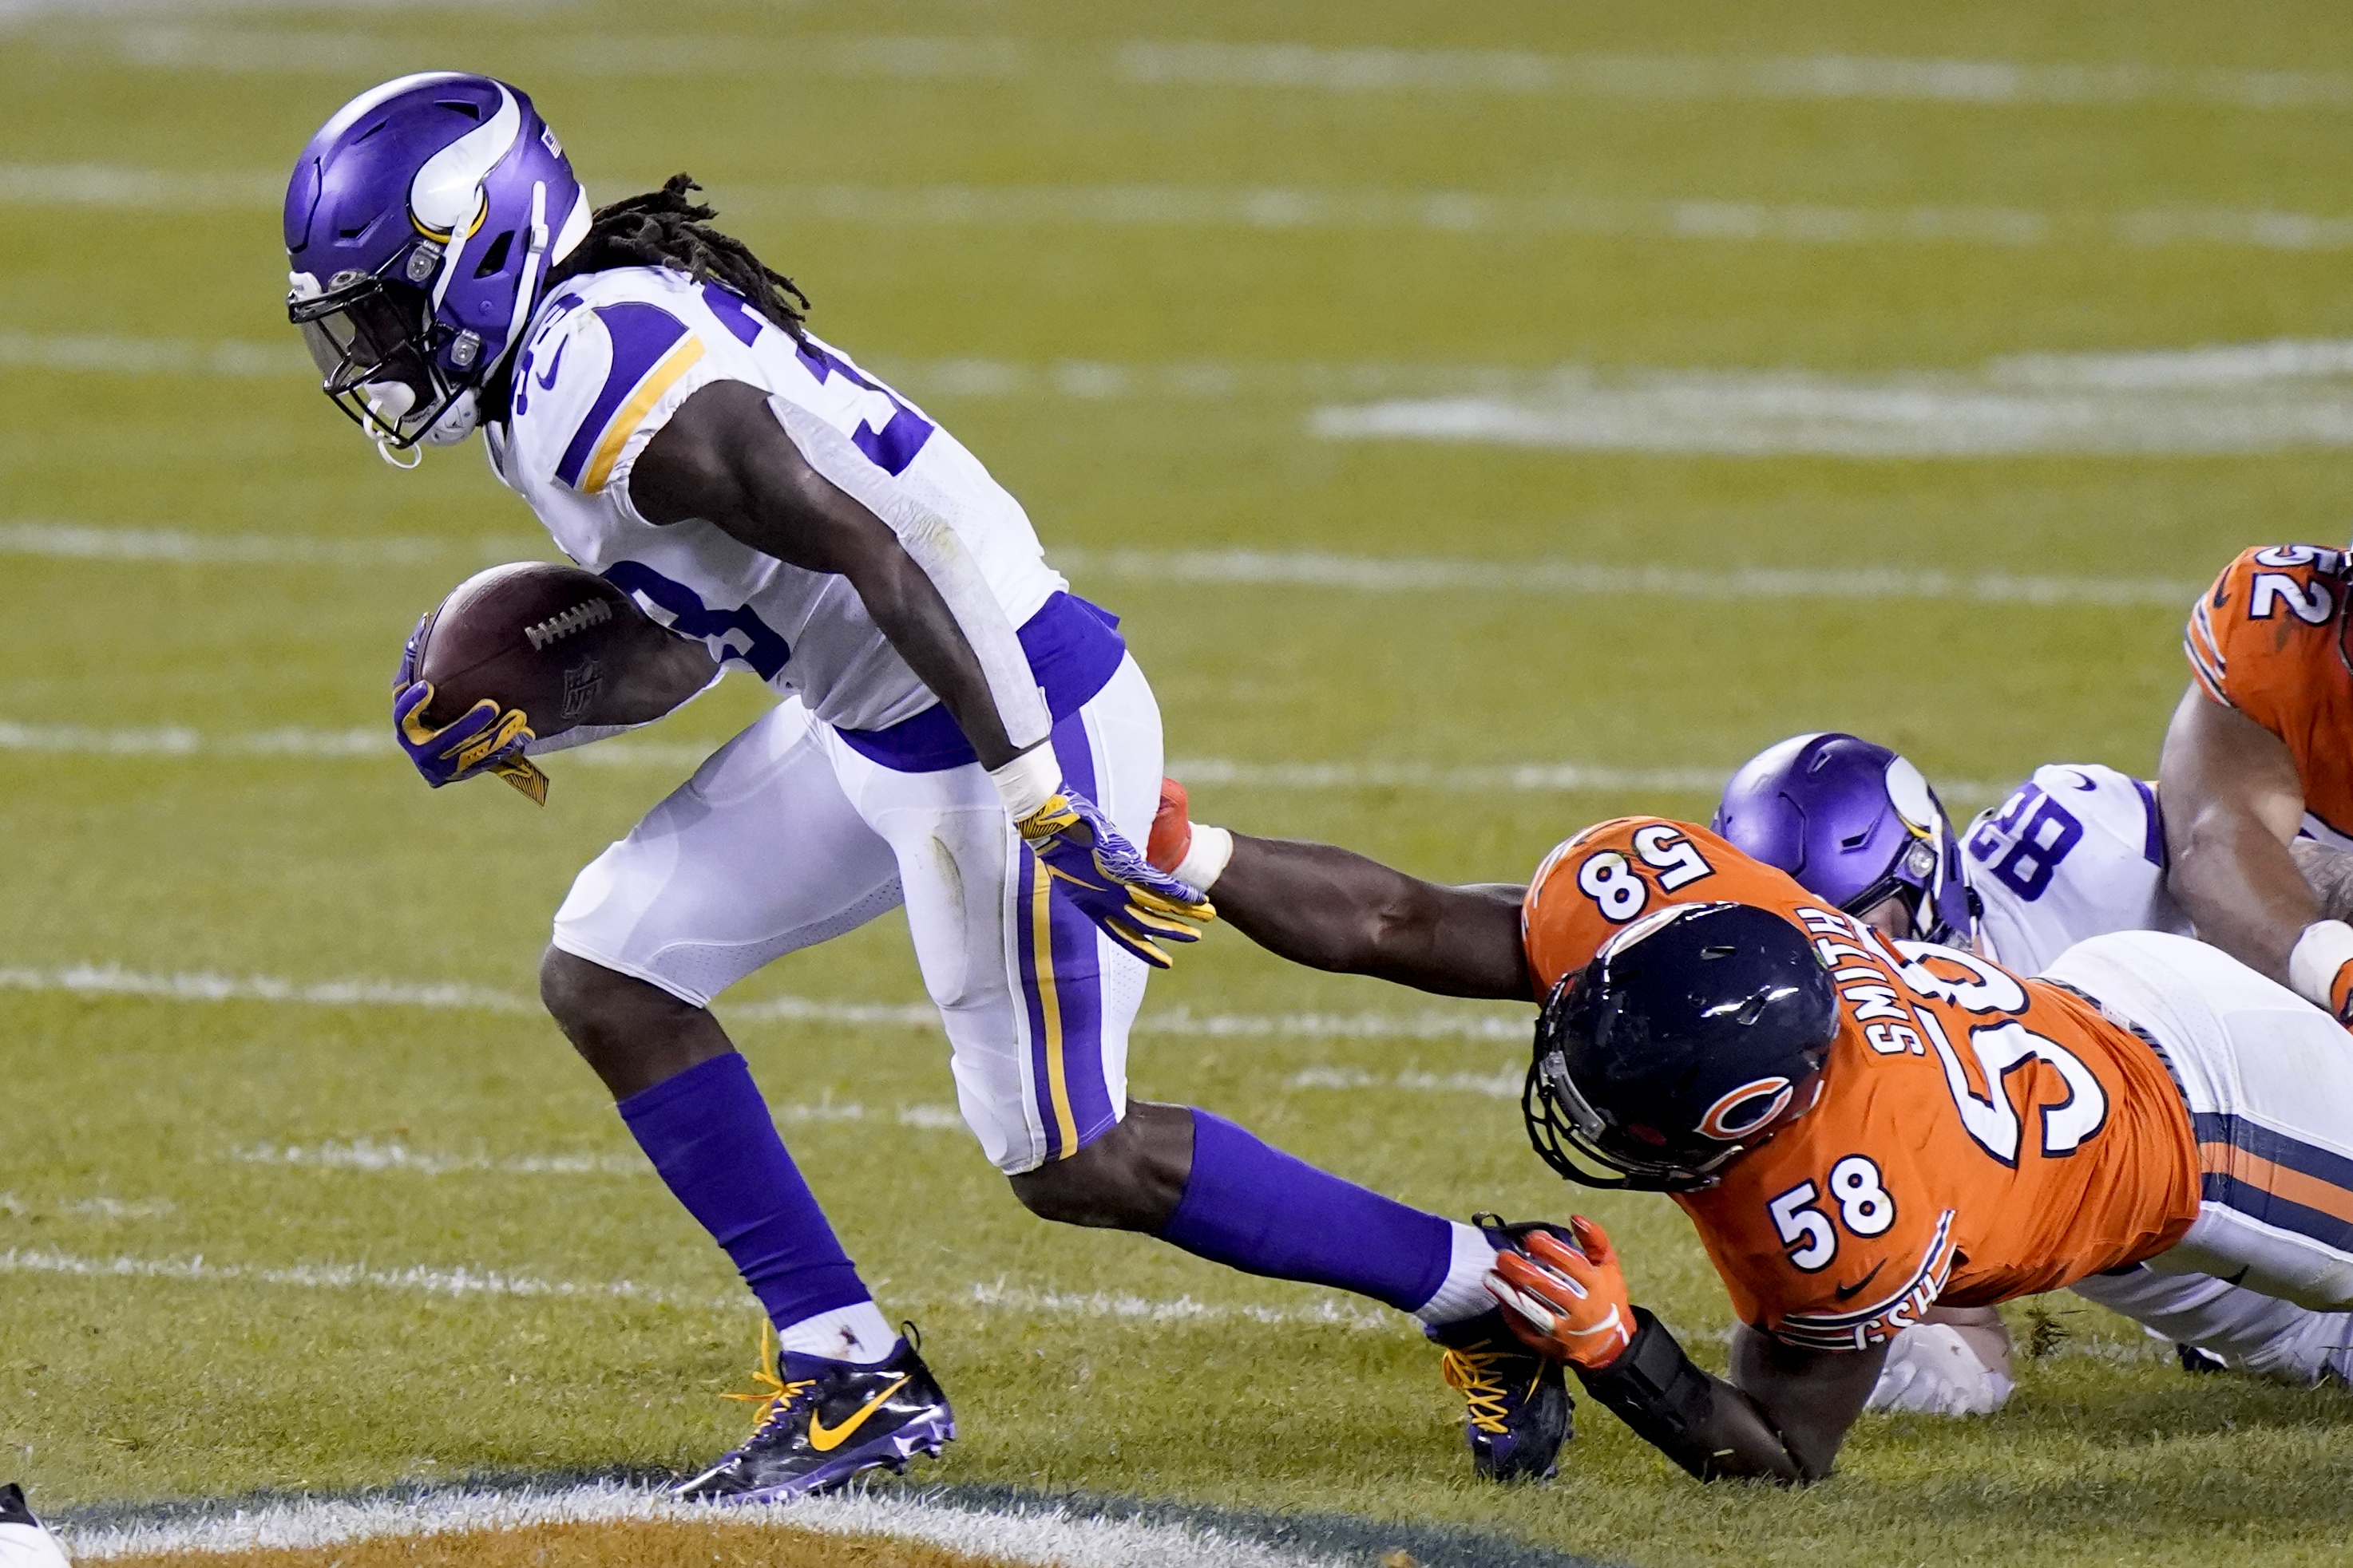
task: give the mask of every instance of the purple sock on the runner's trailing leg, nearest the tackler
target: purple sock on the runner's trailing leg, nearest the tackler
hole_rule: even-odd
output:
[[[1193,1175],[1160,1239],[1245,1274],[1339,1286],[1398,1312],[1431,1300],[1454,1258],[1454,1227],[1438,1215],[1344,1182],[1205,1110],[1193,1112]]]

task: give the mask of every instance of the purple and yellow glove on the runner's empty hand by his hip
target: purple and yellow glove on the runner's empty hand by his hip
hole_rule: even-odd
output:
[[[1144,851],[1129,844],[1092,799],[1061,783],[1049,745],[1016,757],[991,776],[1005,792],[1014,830],[1061,893],[1104,936],[1153,969],[1169,966],[1160,943],[1198,943],[1195,926],[1217,919],[1217,910],[1193,884],[1153,870]],[[1052,788],[1040,790],[1040,780]],[[1040,792],[1045,799],[1035,802]]]

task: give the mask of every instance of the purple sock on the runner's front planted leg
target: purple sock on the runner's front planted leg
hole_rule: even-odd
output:
[[[779,1328],[871,1300],[741,1056],[696,1063],[616,1110]]]

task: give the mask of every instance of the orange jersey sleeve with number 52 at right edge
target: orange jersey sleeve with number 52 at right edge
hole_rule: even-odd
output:
[[[2353,837],[2353,668],[2346,555],[2266,545],[2191,607],[2181,646],[2198,686],[2275,733],[2297,759],[2313,825]]]

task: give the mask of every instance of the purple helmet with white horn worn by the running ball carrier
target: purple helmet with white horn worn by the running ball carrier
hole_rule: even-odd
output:
[[[391,461],[466,440],[588,195],[539,110],[487,75],[386,82],[287,181],[287,317],[322,390]]]

